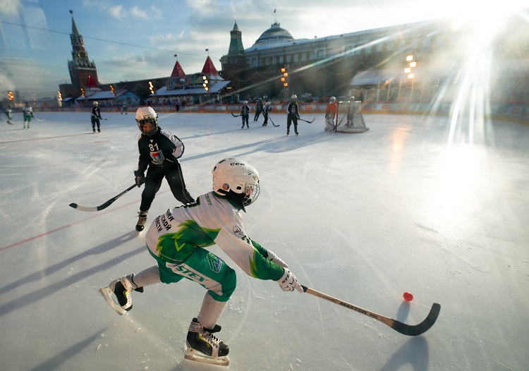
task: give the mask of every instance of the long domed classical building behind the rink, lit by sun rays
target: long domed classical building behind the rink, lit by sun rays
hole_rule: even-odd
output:
[[[501,76],[497,91],[503,99],[512,94],[529,99],[527,89],[520,91],[523,87],[519,85],[528,77],[528,32],[521,17],[513,19],[490,40],[490,47],[481,51],[483,58],[491,60],[492,80]],[[452,88],[479,39],[470,25],[454,27],[449,19],[313,39],[295,39],[274,22],[247,49],[243,49],[241,35],[235,24],[228,54],[220,61],[221,75],[231,80],[242,99],[265,95],[287,99],[304,92],[320,98],[362,92],[370,100],[432,99]],[[416,63],[412,74],[404,72],[408,56]],[[520,67],[521,59],[525,67]],[[501,72],[495,73],[500,65],[511,63],[518,66],[518,73],[513,75],[511,70],[508,81]],[[280,80],[281,68],[288,73],[287,87]]]

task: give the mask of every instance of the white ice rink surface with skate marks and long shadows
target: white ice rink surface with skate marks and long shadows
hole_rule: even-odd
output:
[[[134,229],[134,115],[21,114],[0,122],[0,369],[215,370],[183,360],[205,290],[191,281],[133,293],[119,316],[98,289],[150,267]],[[111,116],[109,118],[109,116]],[[529,126],[451,123],[448,116],[365,114],[367,133],[324,132],[323,114],[241,130],[230,114],[160,114],[186,145],[196,197],[212,166],[241,157],[260,172],[248,235],[301,284],[408,324],[440,303],[437,323],[408,337],[381,322],[238,272],[219,324],[229,370],[529,370]],[[291,130],[292,131],[292,130]],[[150,224],[179,205],[164,183]],[[214,253],[224,257],[218,248]],[[411,303],[402,294],[411,291]]]

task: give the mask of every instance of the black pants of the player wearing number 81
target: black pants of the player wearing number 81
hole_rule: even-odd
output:
[[[188,190],[186,189],[186,183],[183,181],[182,168],[180,164],[175,164],[172,169],[162,169],[157,171],[159,168],[156,166],[149,166],[147,169],[147,176],[145,177],[145,188],[142,192],[142,202],[140,210],[146,212],[150,209],[154,196],[162,186],[162,180],[166,178],[169,188],[173,193],[176,200],[186,205],[191,202],[195,202],[195,199],[191,197]],[[157,171],[155,173],[155,171]],[[174,205],[170,205],[171,207]]]

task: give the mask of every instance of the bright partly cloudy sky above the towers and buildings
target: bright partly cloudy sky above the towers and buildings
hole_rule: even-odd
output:
[[[521,4],[522,0],[509,3]],[[71,16],[97,65],[100,83],[202,71],[227,54],[236,21],[251,47],[274,20],[294,38],[313,38],[473,12],[478,1],[334,0],[0,0],[0,86],[51,96],[71,83]],[[465,5],[466,4],[466,5]],[[505,1],[501,3],[505,5]],[[276,9],[276,13],[274,13]],[[20,27],[25,24],[28,27]],[[49,94],[48,94],[49,93]]]

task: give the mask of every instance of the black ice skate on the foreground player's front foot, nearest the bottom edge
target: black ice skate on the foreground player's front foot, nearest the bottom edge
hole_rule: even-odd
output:
[[[184,358],[211,365],[229,365],[229,358],[227,357],[229,346],[212,335],[220,330],[221,327],[218,324],[213,329],[206,329],[196,318],[193,318],[186,339],[188,349]]]

